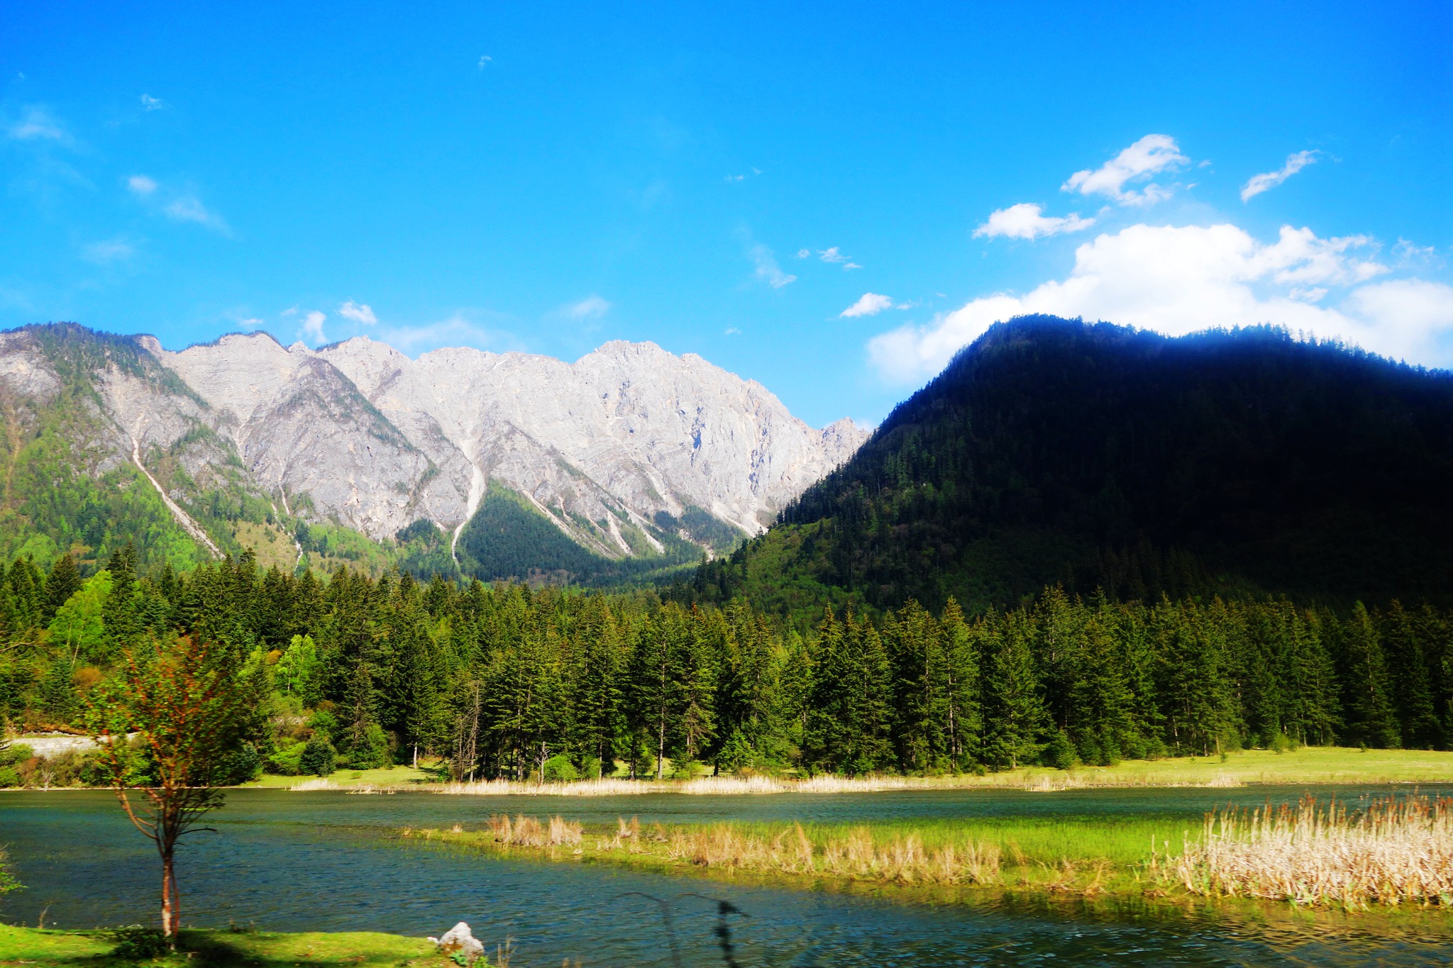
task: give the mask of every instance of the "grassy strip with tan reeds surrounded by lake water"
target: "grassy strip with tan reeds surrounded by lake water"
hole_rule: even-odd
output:
[[[1453,801],[1404,797],[1360,813],[1298,808],[1161,817],[976,817],[863,824],[593,824],[491,817],[408,840],[551,861],[917,888],[1257,897],[1348,910],[1453,910]]]

